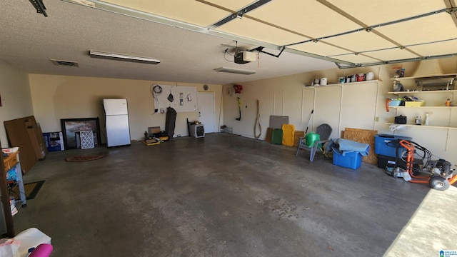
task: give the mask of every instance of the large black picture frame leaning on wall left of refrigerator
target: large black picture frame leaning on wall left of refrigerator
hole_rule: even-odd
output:
[[[61,119],[60,122],[64,134],[65,149],[81,148],[81,144],[76,140],[80,131],[91,130],[94,133],[94,145],[101,145],[99,117]]]

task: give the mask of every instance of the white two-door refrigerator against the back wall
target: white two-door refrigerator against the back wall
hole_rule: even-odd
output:
[[[129,109],[127,99],[103,99],[106,146],[130,145]]]

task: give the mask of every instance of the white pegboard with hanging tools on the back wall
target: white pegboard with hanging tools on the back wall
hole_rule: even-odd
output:
[[[160,113],[166,113],[168,107],[176,112],[197,111],[197,89],[195,86],[170,86],[154,84],[151,89],[154,106]]]

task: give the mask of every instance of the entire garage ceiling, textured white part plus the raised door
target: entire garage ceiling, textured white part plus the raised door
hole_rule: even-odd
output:
[[[457,54],[454,0],[43,1],[48,17],[34,14],[25,0],[8,1],[0,10],[6,25],[0,29],[0,59],[32,73],[226,84],[335,64]],[[231,55],[240,49],[259,59],[234,64]],[[148,56],[161,64],[94,60],[89,50]],[[39,61],[49,59],[78,61],[79,67],[59,71]],[[214,71],[221,66],[256,74]]]

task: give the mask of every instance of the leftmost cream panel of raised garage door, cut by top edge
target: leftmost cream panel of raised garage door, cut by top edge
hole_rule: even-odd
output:
[[[204,27],[231,14],[229,11],[189,0],[106,0],[104,2]]]

